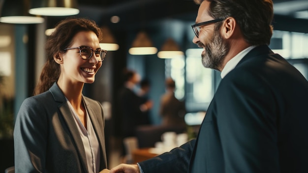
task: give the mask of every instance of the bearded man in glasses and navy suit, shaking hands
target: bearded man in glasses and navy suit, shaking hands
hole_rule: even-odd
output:
[[[222,77],[198,137],[111,173],[308,173],[308,81],[267,46],[272,0],[196,1],[193,42]]]

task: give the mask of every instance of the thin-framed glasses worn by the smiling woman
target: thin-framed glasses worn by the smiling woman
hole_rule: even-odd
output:
[[[70,48],[65,48],[63,50],[69,50],[69,49],[79,49],[80,57],[83,60],[89,60],[92,57],[93,52],[94,52],[94,55],[97,61],[102,62],[104,61],[106,54],[107,54],[107,50],[103,50],[103,49],[93,50],[91,47],[88,47],[88,46],[70,47]]]

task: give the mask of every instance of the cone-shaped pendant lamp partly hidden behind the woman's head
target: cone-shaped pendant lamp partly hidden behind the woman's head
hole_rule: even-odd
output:
[[[109,28],[102,27],[103,39],[99,43],[100,48],[108,51],[115,51],[119,49],[119,45],[116,43],[115,38],[111,34]]]

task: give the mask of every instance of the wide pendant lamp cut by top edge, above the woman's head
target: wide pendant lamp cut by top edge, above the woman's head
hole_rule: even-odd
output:
[[[31,0],[30,14],[42,16],[71,16],[79,13],[77,0]]]

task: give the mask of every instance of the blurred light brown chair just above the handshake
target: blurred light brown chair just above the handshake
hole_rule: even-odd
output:
[[[138,148],[138,139],[136,137],[126,137],[123,138],[123,143],[125,147],[125,163],[132,164],[134,163],[132,152]]]

